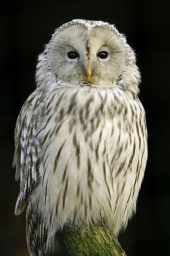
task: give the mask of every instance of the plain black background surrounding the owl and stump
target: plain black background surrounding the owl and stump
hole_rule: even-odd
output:
[[[169,6],[168,1],[11,1],[1,19],[1,233],[0,254],[27,256],[25,214],[14,216],[13,133],[20,108],[34,91],[37,56],[54,29],[75,18],[114,23],[135,49],[142,73],[140,100],[147,114],[148,163],[137,213],[119,241],[127,256],[168,255]]]

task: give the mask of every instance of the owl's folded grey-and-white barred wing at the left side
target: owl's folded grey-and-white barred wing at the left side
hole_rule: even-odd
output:
[[[26,100],[15,127],[15,152],[13,167],[16,167],[15,180],[20,180],[20,192],[15,205],[15,214],[25,210],[26,196],[36,185],[43,173],[41,150],[37,140],[37,118],[41,113],[42,93],[36,90]]]

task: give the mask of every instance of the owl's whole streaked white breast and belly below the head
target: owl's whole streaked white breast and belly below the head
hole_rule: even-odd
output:
[[[44,174],[30,197],[51,234],[101,222],[116,234],[127,225],[146,162],[143,122],[140,101],[123,90],[48,93],[37,126]]]

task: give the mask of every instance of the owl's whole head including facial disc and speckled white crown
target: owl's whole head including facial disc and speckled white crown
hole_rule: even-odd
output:
[[[36,81],[42,89],[55,83],[117,87],[137,95],[140,73],[133,50],[114,25],[75,19],[56,29],[39,55]]]

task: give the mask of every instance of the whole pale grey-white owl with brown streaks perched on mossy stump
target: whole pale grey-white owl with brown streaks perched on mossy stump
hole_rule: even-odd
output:
[[[30,255],[61,255],[63,228],[126,228],[147,162],[140,80],[125,36],[103,21],[65,23],[39,55],[13,160]]]

